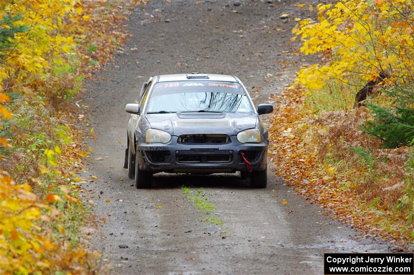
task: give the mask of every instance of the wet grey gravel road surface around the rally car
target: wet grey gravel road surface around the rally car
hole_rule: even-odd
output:
[[[309,12],[294,0],[268,2],[153,0],[132,12],[127,28],[133,37],[89,81],[85,101],[97,139],[88,141],[94,152],[84,176],[99,179],[85,188],[93,213],[106,219],[91,243],[102,251],[104,273],[323,274],[323,253],[389,250],[323,216],[271,165],[268,186],[259,190],[238,174],[157,174],[153,188],[137,190],[122,168],[124,107],[151,75],[234,74],[249,90],[263,87],[252,93],[256,105],[292,81],[304,60],[292,54],[297,44],[290,29]],[[281,19],[283,13],[289,18]],[[205,221],[211,214],[196,209],[182,185],[193,193],[203,189],[215,205],[212,215],[224,224]]]

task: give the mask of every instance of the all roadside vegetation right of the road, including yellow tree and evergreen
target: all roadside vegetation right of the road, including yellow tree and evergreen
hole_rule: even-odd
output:
[[[414,2],[348,0],[297,18],[320,63],[275,96],[278,174],[334,218],[414,250]]]

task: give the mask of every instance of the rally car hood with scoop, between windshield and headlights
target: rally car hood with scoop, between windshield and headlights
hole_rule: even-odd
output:
[[[166,113],[146,114],[153,129],[169,132],[171,135],[183,134],[227,134],[255,128],[255,113]]]

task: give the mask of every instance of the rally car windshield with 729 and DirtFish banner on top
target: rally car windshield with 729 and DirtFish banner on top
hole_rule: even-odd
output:
[[[159,82],[153,88],[147,113],[253,112],[242,86],[225,81]]]

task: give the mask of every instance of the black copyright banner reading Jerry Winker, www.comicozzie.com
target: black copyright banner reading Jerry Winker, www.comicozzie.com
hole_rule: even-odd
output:
[[[414,275],[412,253],[325,253],[324,275]]]

